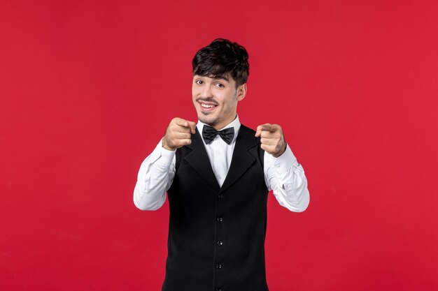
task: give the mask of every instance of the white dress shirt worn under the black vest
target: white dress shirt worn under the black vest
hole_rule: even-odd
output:
[[[201,134],[204,125],[201,121],[197,123],[197,129]],[[225,126],[225,128],[234,127],[234,137],[230,144],[224,142],[219,135],[210,144],[206,144],[202,139],[219,186],[222,186],[227,177],[240,126],[239,117]],[[141,210],[156,210],[162,207],[166,200],[166,192],[175,176],[175,152],[164,149],[160,140],[152,154],[141,163],[134,188],[136,207]],[[310,197],[306,176],[289,145],[278,158],[265,151],[263,170],[266,186],[273,191],[281,206],[295,212],[307,208]]]

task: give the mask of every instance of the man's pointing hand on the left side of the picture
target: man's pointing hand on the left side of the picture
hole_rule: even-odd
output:
[[[181,118],[174,118],[170,121],[163,137],[163,147],[169,151],[174,151],[180,147],[191,144],[192,134],[195,134],[196,124]]]

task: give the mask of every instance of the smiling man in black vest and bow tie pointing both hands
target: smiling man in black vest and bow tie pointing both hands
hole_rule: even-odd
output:
[[[264,237],[267,195],[304,211],[304,170],[281,127],[240,123],[248,53],[216,39],[192,61],[198,122],[174,118],[141,164],[134,204],[156,210],[169,197],[164,291],[267,291]],[[263,117],[264,118],[264,117]]]

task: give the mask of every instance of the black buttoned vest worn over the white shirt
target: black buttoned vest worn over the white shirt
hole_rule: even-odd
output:
[[[241,126],[222,187],[198,131],[176,151],[163,291],[267,291],[268,190],[255,131]]]

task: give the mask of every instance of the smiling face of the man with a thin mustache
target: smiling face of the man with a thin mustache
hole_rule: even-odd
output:
[[[246,95],[246,84],[236,88],[230,76],[193,76],[192,99],[198,119],[213,128],[221,129],[236,118],[237,102]]]

